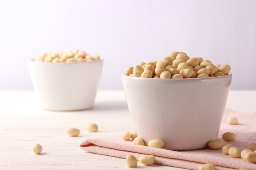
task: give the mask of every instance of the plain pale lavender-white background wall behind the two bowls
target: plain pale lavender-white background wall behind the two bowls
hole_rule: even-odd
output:
[[[27,60],[84,50],[104,58],[100,90],[172,51],[229,64],[256,90],[256,0],[0,0],[0,90],[33,89]]]

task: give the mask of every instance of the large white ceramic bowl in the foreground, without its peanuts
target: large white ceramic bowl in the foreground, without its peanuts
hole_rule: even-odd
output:
[[[205,148],[216,139],[232,75],[153,79],[122,75],[137,136],[160,139],[168,150]]]

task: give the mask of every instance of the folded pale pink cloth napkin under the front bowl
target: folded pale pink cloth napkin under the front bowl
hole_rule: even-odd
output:
[[[227,124],[228,117],[237,117],[238,125]],[[256,113],[242,113],[226,109],[218,139],[222,139],[225,132],[236,134],[236,140],[223,141],[223,146],[231,144],[243,150],[250,143],[256,143]],[[97,137],[85,139],[80,144],[81,149],[101,155],[126,158],[134,155],[137,159],[143,155],[154,155],[155,163],[177,168],[198,170],[203,163],[213,163],[217,170],[246,169],[256,170],[255,163],[248,163],[241,158],[233,158],[222,153],[222,149],[211,150],[209,148],[190,151],[172,151],[148,146],[133,145],[132,140],[125,141],[121,135],[113,137]]]

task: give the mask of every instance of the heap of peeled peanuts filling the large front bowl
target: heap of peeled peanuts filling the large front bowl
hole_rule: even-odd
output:
[[[228,64],[212,64],[202,57],[189,57],[184,52],[171,52],[158,62],[151,60],[139,62],[135,66],[126,68],[125,75],[144,78],[183,79],[218,77],[229,74]]]

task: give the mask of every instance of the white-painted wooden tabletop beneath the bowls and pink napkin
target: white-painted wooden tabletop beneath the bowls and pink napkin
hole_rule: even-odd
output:
[[[230,91],[226,107],[256,113],[256,91]],[[90,122],[98,124],[98,132],[85,130]],[[80,129],[79,137],[67,136],[69,127]],[[87,153],[79,144],[87,137],[114,136],[132,128],[124,91],[98,91],[93,109],[74,112],[42,110],[34,91],[0,91],[0,170],[130,169],[125,159]],[[35,143],[43,146],[40,155],[31,150]]]

